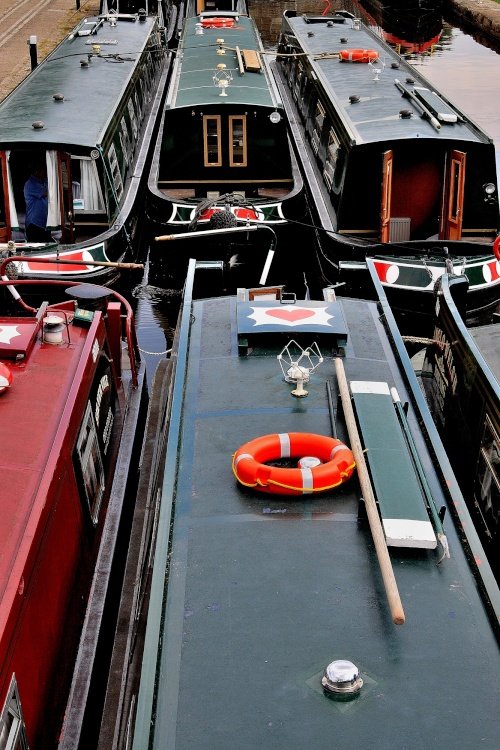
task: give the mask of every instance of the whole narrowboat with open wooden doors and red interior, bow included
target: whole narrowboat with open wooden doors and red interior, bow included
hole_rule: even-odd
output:
[[[349,12],[285,11],[275,67],[307,174],[318,259],[363,289],[375,260],[395,309],[432,315],[434,286],[469,280],[467,317],[500,295],[492,139]]]

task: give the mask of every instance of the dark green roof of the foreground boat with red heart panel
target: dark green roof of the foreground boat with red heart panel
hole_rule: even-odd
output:
[[[406,616],[395,625],[356,475],[290,497],[245,487],[232,471],[235,452],[270,433],[350,444],[339,354],[351,387],[397,388],[436,506],[456,504],[466,518],[439,440],[419,428],[425,402],[389,306],[191,301],[188,287],[179,330],[134,750],[232,748],[235,737],[249,750],[324,748],[332,738],[338,747],[496,748],[498,642],[452,514],[449,558],[391,548]],[[294,398],[277,355],[291,339],[310,347],[321,331],[323,361],[308,396]],[[387,443],[383,422],[372,437]],[[387,455],[382,479],[397,484],[396,458]],[[364,682],[349,701],[322,688],[327,665],[344,660]]]

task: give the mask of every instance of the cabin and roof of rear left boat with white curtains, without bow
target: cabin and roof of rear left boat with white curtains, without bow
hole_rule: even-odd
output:
[[[75,244],[112,230],[164,56],[145,11],[86,18],[0,103],[0,242]],[[29,180],[46,194],[38,234]]]

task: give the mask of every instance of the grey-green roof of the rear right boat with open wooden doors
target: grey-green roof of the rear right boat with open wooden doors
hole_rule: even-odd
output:
[[[313,16],[297,15],[295,11],[285,11],[285,18],[353,144],[408,138],[492,142],[417,68],[359,19],[354,23],[349,14]],[[339,53],[349,50],[374,51],[377,59],[368,64],[340,61]],[[403,93],[396,82],[405,92],[416,94],[416,100]],[[418,102],[435,116],[438,127],[421,116]],[[412,113],[411,117],[401,116],[405,110]]]

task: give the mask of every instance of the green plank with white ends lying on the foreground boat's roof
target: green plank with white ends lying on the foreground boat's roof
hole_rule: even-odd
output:
[[[435,549],[417,470],[387,383],[349,383],[387,544]]]

